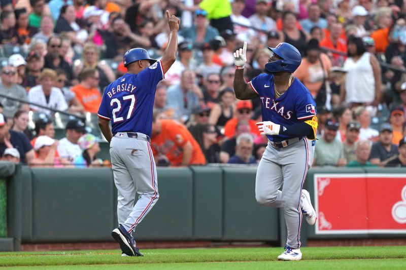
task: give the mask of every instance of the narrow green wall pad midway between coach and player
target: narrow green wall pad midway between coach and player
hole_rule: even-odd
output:
[[[193,171],[193,231],[196,240],[221,240],[223,235],[223,171],[191,167]]]

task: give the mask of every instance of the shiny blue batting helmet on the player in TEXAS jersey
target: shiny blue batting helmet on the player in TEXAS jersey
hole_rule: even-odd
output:
[[[278,55],[282,60],[276,60],[265,64],[266,70],[269,72],[286,71],[293,73],[301,63],[301,56],[299,51],[292,45],[286,42],[278,44],[276,48],[270,48],[273,53]]]

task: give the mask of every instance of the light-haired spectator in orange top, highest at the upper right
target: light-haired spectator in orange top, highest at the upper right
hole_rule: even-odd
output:
[[[391,15],[392,11],[387,7],[379,8],[375,15],[375,22],[379,28],[371,34],[371,37],[374,38],[377,53],[384,53],[389,45],[389,29],[392,25]]]

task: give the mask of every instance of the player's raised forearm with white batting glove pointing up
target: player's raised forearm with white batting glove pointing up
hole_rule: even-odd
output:
[[[250,84],[244,79],[244,65],[247,62],[245,55],[247,51],[247,42],[244,42],[243,48],[236,50],[234,53],[235,75],[234,75],[234,92],[235,97],[241,100],[253,99],[258,94],[252,90]]]

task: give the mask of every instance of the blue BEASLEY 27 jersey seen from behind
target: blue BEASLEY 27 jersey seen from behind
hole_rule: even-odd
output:
[[[151,136],[156,85],[164,78],[161,61],[138,74],[126,73],[106,87],[98,117],[111,120],[112,132]]]

